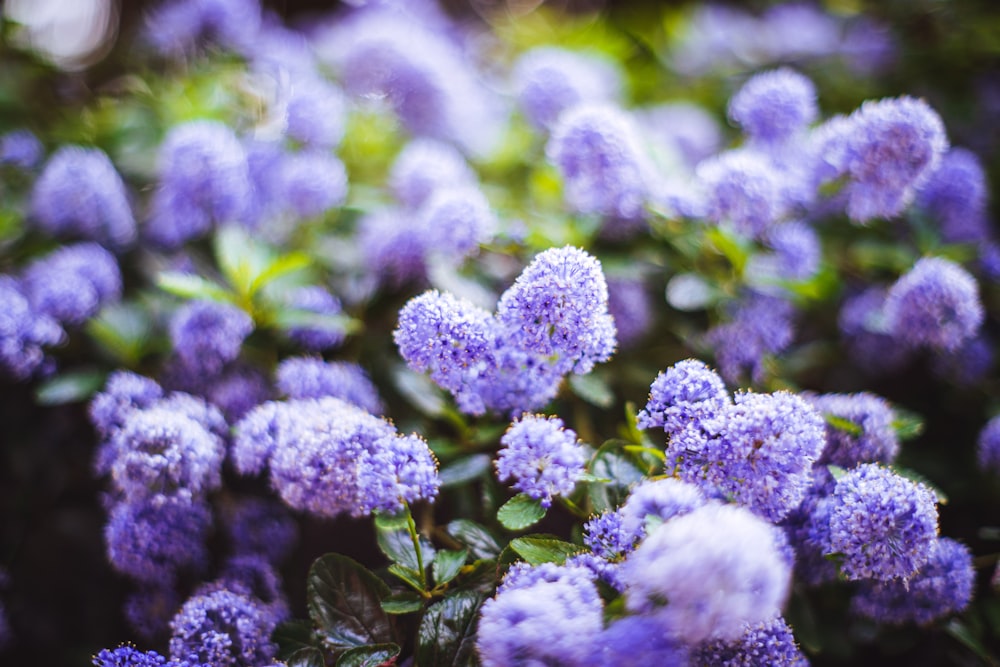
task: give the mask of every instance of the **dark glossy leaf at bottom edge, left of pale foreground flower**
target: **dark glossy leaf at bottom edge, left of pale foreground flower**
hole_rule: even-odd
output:
[[[476,621],[485,599],[482,593],[461,591],[428,608],[417,631],[416,664],[435,667],[478,664]]]

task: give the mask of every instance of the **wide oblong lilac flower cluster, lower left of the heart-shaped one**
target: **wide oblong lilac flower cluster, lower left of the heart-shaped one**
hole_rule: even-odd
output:
[[[236,425],[232,459],[244,475],[269,468],[286,504],[319,516],[396,511],[440,484],[426,442],[329,397],[258,406]]]

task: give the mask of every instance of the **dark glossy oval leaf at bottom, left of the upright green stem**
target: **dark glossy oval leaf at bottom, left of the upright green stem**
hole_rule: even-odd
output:
[[[385,582],[346,556],[326,554],[309,568],[309,616],[334,651],[395,639],[392,620],[382,610],[387,597]]]

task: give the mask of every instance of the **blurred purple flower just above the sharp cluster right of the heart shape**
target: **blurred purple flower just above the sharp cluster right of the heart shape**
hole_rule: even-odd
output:
[[[761,383],[766,357],[785,350],[795,337],[794,315],[794,306],[777,296],[752,293],[736,302],[730,321],[705,336],[722,377],[738,384],[749,372],[754,383]]]

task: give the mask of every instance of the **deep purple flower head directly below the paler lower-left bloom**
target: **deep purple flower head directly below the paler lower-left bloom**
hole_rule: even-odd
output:
[[[205,540],[211,526],[208,506],[183,496],[117,503],[104,527],[108,561],[140,582],[173,582],[179,570],[208,563]]]

